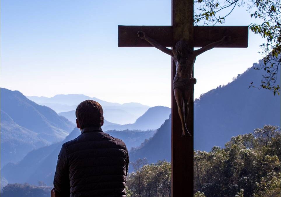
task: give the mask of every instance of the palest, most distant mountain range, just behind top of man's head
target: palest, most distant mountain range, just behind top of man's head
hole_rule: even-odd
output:
[[[128,124],[134,123],[138,117],[143,115],[150,107],[140,103],[114,103],[89,97],[82,94],[55,95],[54,97],[27,96],[28,99],[40,105],[45,105],[57,113],[69,113],[76,109],[77,105],[84,100],[95,100],[103,107],[104,118],[112,123]],[[72,113],[72,112],[71,112]]]

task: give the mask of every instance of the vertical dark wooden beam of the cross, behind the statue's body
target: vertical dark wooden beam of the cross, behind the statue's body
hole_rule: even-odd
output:
[[[188,42],[193,50],[193,0],[172,0],[173,43]],[[172,59],[172,87],[176,74]],[[193,73],[192,73],[193,75]],[[172,196],[193,196],[193,94],[189,102],[187,129],[192,137],[181,137],[181,121],[172,88]]]

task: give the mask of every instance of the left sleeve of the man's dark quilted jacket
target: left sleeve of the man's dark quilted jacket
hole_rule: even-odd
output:
[[[55,190],[59,193],[59,196],[69,196],[70,195],[70,185],[69,185],[69,167],[67,163],[67,155],[64,144],[59,152],[57,159],[57,168],[54,178]]]

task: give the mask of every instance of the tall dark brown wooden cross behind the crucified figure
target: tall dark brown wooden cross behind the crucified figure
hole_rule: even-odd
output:
[[[185,39],[193,49],[219,41],[224,36],[231,36],[231,42],[218,47],[248,47],[248,26],[193,26],[193,0],[172,0],[172,26],[118,26],[118,47],[152,47],[138,38],[138,31],[146,32],[166,47],[174,47],[177,41]],[[172,83],[175,73],[172,59]],[[189,113],[187,126],[193,136],[193,95]],[[181,122],[173,89],[171,130],[172,196],[193,196],[193,137],[181,137]]]

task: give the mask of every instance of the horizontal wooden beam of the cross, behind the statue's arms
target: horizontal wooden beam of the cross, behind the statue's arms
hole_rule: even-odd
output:
[[[118,26],[118,47],[152,47],[147,41],[138,38],[137,32],[146,32],[161,45],[173,47],[173,26]],[[248,26],[194,26],[194,47],[203,47],[231,36],[229,43],[217,47],[247,48]]]

